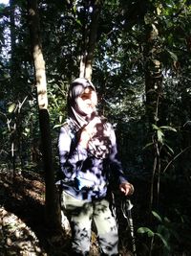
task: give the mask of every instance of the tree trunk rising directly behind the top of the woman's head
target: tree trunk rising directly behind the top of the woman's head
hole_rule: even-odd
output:
[[[98,19],[100,14],[100,0],[95,0],[93,3],[93,12],[91,13],[91,24],[88,28],[86,23],[87,12],[89,12],[88,2],[84,6],[85,19],[84,19],[84,36],[83,36],[83,54],[80,59],[80,71],[79,77],[92,80],[93,72],[93,61],[94,61],[94,52],[96,47],[96,37],[97,37],[97,28],[98,28]],[[88,11],[87,11],[88,10]]]

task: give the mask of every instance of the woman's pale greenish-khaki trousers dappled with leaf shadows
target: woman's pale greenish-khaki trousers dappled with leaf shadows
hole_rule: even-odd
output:
[[[91,243],[92,221],[102,255],[118,255],[117,219],[109,198],[92,201],[62,194],[63,210],[70,220],[74,255],[88,255]]]

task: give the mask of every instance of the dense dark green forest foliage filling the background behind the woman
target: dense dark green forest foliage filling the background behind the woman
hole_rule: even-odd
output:
[[[0,168],[14,175],[23,170],[44,174],[29,2],[0,4]],[[190,4],[37,2],[53,172],[59,168],[57,134],[66,119],[67,89],[86,61],[98,110],[116,128],[124,171],[138,191],[137,210],[145,216],[138,217],[138,226],[149,226],[139,232],[155,236],[147,249],[162,250],[159,255],[191,250]]]

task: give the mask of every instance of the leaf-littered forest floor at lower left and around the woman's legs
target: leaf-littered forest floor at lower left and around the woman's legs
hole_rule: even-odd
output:
[[[67,256],[70,234],[50,230],[44,220],[45,183],[41,175],[0,171],[0,256]],[[119,220],[120,255],[133,255],[128,249],[126,220]],[[120,227],[120,225],[119,225]],[[91,256],[98,256],[93,232]]]

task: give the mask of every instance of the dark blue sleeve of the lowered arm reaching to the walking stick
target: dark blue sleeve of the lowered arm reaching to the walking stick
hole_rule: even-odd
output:
[[[117,139],[114,128],[111,126],[110,139],[112,143],[112,149],[110,153],[110,172],[112,180],[116,180],[119,184],[123,182],[128,182],[126,176],[123,173],[122,165],[119,159],[117,158]]]

